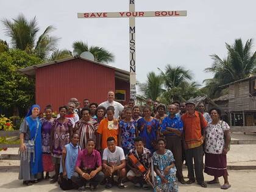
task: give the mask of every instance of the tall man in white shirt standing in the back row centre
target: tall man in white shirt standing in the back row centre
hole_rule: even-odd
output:
[[[119,102],[114,101],[115,93],[113,91],[108,91],[107,93],[107,101],[102,102],[99,106],[103,106],[108,108],[109,106],[113,106],[115,108],[115,115],[114,117],[118,119],[119,113],[123,111],[124,106]]]

